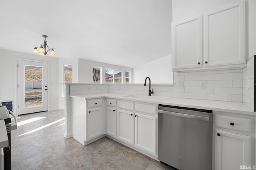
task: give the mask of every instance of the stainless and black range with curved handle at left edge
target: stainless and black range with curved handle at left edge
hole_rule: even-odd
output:
[[[10,114],[14,117],[14,123],[11,123]],[[4,148],[4,170],[11,170],[11,131],[17,129],[17,117],[12,113],[12,111],[8,111],[6,106],[0,106],[0,119],[3,119],[5,122],[9,143],[9,146]]]

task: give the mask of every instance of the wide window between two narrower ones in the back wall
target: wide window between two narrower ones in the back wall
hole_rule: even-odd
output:
[[[122,71],[112,70],[106,68],[105,70],[105,82],[106,83],[122,83]]]

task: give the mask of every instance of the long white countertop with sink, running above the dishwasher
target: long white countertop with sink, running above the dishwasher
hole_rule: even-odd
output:
[[[146,102],[154,104],[164,104],[171,106],[180,107],[192,107],[198,109],[208,109],[213,111],[224,111],[231,113],[240,113],[248,115],[256,115],[252,109],[246,106],[242,102],[225,102],[216,100],[200,100],[200,99],[185,99],[185,98],[167,98],[164,100],[156,101],[150,99],[140,99],[140,98],[129,98],[125,97],[129,94],[117,94],[117,93],[100,93],[100,94],[80,94],[80,95],[70,95],[71,98],[81,98],[81,99],[94,99],[94,98],[116,98],[121,100],[130,100],[134,102]]]

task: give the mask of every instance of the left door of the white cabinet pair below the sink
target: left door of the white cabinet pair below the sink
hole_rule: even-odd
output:
[[[134,145],[134,112],[118,109],[117,138]]]

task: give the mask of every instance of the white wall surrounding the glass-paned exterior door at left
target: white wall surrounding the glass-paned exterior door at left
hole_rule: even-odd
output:
[[[40,55],[20,53],[2,49],[0,49],[0,79],[2,79],[0,82],[0,100],[13,100],[14,113],[17,115],[17,81],[15,80],[17,72],[16,58],[48,61],[50,63],[50,82],[48,82],[50,95],[49,107],[50,110],[58,109],[58,59],[54,57],[43,57]]]

